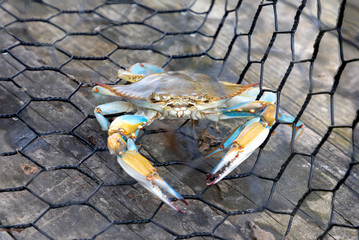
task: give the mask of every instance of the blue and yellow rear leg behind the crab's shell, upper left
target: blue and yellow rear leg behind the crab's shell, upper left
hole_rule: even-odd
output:
[[[136,63],[128,71],[120,69],[117,76],[128,82],[140,81],[144,76],[152,73],[162,73],[163,68],[148,63]]]

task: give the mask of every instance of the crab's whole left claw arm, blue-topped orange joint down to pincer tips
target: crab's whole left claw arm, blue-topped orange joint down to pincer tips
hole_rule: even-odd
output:
[[[147,118],[139,115],[117,117],[108,130],[108,147],[112,154],[117,155],[118,163],[131,177],[171,208],[183,213],[162,190],[188,205],[186,200],[164,181],[158,175],[157,169],[137,151],[134,139],[147,122]]]

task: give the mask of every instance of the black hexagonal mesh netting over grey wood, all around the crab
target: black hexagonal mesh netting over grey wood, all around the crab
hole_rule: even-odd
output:
[[[358,239],[356,1],[0,1],[1,239]],[[201,156],[242,122],[157,121],[138,138],[176,213],[108,153],[91,95],[137,62],[260,82],[282,111],[215,186]]]

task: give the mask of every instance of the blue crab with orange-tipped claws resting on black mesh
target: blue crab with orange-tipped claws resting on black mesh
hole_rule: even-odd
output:
[[[174,198],[186,200],[177,193],[156,168],[137,149],[135,139],[145,125],[157,119],[209,119],[220,121],[231,118],[248,118],[237,127],[219,148],[207,157],[224,149],[228,152],[208,174],[206,181],[213,185],[227,176],[247,159],[267,138],[276,121],[276,94],[265,91],[259,100],[258,84],[239,85],[217,81],[210,76],[187,71],[165,72],[161,67],[147,63],[133,65],[128,71],[120,70],[118,77],[131,82],[129,85],[97,84],[95,96],[105,101],[105,96],[118,96],[119,100],[104,103],[95,108],[95,117],[103,130],[108,131],[108,148],[117,156],[122,168],[153,195],[173,209],[183,212],[165,192]],[[110,123],[106,115],[124,114]],[[291,123],[294,117],[278,114],[279,120]],[[296,124],[295,139],[303,130],[303,123]],[[216,176],[215,176],[216,175]]]

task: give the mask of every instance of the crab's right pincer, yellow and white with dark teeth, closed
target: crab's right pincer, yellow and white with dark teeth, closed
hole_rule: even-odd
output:
[[[239,164],[246,160],[267,138],[269,127],[262,121],[254,122],[245,126],[232,146],[217,166],[207,175],[206,181],[217,175],[207,185],[214,185],[231,173]],[[223,169],[224,168],[224,169]]]

